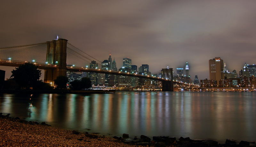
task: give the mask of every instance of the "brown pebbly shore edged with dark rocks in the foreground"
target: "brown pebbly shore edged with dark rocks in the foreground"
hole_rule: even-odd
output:
[[[214,140],[190,139],[170,136],[141,135],[130,138],[123,136],[106,137],[88,132],[65,130],[51,127],[45,122],[21,120],[19,117],[10,117],[10,114],[0,113],[0,146],[109,146],[109,147],[245,147],[255,146],[255,142],[227,139],[225,144]]]

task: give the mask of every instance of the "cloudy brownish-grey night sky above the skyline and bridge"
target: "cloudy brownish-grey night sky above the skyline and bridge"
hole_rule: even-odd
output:
[[[255,0],[93,0],[0,2],[0,47],[51,41],[58,34],[101,61],[111,51],[117,68],[129,57],[138,67],[185,67],[205,79],[208,60],[228,71],[256,64]],[[6,78],[12,67],[6,70]]]

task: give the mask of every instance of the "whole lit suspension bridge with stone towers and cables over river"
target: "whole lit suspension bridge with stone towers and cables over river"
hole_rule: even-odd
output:
[[[97,61],[98,68],[89,68],[91,61]],[[19,67],[33,63],[44,70],[44,82],[51,83],[58,76],[66,76],[67,71],[114,74],[145,78],[162,82],[162,91],[173,91],[173,84],[196,87],[172,80],[172,68],[162,69],[163,77],[101,69],[101,61],[68,43],[67,39],[57,39],[44,43],[0,48],[0,66]]]

